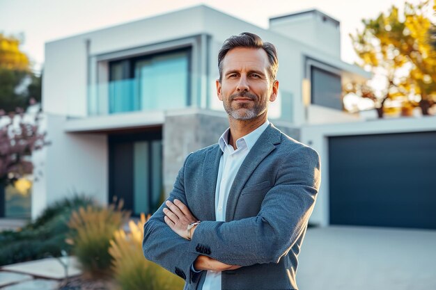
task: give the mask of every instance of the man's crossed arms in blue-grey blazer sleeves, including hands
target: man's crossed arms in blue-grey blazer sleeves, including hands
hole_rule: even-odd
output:
[[[144,225],[146,258],[172,272],[176,265],[185,273],[193,264],[197,270],[226,271],[234,265],[278,263],[304,231],[320,183],[316,152],[300,147],[285,159],[278,163],[274,186],[265,194],[257,216],[231,222],[203,220],[188,241],[187,225],[196,221],[185,195],[188,156],[169,199]],[[210,245],[210,255],[199,256],[198,244]]]

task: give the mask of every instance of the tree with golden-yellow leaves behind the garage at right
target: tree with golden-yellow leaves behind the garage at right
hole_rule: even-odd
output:
[[[436,49],[428,41],[434,26],[426,9],[428,1],[414,6],[405,3],[403,15],[392,6],[389,13],[375,19],[364,19],[364,30],[350,35],[359,58],[358,65],[371,70],[384,80],[384,89],[367,86],[374,97],[375,108],[382,118],[387,100],[400,102],[404,108],[420,106],[423,115],[436,99]],[[355,85],[349,92],[361,92]],[[347,90],[345,90],[347,92]]]

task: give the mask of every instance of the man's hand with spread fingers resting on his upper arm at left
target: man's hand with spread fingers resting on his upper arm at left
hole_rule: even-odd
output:
[[[192,216],[191,211],[180,200],[174,200],[174,203],[167,200],[165,204],[168,207],[168,209],[164,208],[166,225],[183,239],[188,239],[187,227],[189,224],[195,223],[197,219]],[[194,234],[194,230],[195,227],[191,229],[191,234]]]

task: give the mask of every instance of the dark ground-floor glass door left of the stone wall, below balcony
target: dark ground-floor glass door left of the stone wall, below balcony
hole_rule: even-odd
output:
[[[122,198],[133,216],[153,214],[162,184],[160,131],[109,136],[109,202]]]

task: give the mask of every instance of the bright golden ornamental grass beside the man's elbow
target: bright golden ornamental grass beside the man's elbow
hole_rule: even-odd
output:
[[[118,285],[123,290],[175,290],[183,289],[184,281],[157,264],[143,257],[143,224],[146,218],[129,222],[130,232],[119,229],[109,248],[114,258],[112,269]]]

